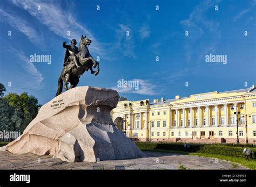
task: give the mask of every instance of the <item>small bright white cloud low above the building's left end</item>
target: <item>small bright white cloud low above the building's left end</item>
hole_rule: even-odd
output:
[[[159,90],[159,87],[153,83],[151,83],[148,80],[142,80],[142,79],[134,79],[131,81],[138,81],[139,82],[139,89],[136,90],[134,88],[118,88],[118,87],[112,87],[111,89],[117,90],[118,92],[122,93],[137,93],[140,95],[158,95],[161,93],[161,90]]]

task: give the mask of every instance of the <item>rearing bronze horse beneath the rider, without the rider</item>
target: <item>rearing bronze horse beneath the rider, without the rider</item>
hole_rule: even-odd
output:
[[[71,88],[75,88],[76,85],[79,82],[79,78],[81,75],[84,74],[85,71],[88,71],[90,68],[96,68],[97,70],[94,73],[95,75],[99,74],[99,62],[97,62],[96,60],[93,59],[93,57],[91,56],[87,46],[89,46],[91,44],[91,40],[86,38],[86,36],[81,37],[81,40],[79,42],[79,53],[76,54],[77,59],[78,59],[78,64],[79,67],[78,68],[71,68],[73,65],[74,60],[72,60],[68,66],[64,67],[62,69],[62,73],[59,76],[59,80],[58,80],[58,90],[56,93],[56,96],[60,95],[60,93],[62,92],[63,89],[63,81],[65,82],[64,85],[64,89],[65,90],[69,90]],[[70,68],[69,73],[65,73],[65,68]],[[68,88],[68,83],[70,83],[70,87]]]

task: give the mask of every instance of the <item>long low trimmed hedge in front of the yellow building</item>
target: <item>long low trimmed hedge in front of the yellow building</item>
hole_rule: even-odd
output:
[[[185,147],[184,143],[147,143],[147,142],[136,142],[139,149],[162,149],[162,150],[183,150],[185,152],[192,153],[210,153],[219,154],[227,156],[244,157],[242,155],[242,150],[244,150],[245,145],[224,145],[224,144],[197,144],[197,143],[187,143],[190,147]],[[252,150],[251,158],[256,159],[256,148],[250,147]]]

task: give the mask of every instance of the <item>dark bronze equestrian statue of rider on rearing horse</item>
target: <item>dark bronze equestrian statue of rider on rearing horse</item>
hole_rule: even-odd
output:
[[[76,87],[80,76],[83,75],[85,71],[90,69],[91,74],[99,74],[99,62],[93,59],[87,48],[87,46],[91,44],[91,40],[82,35],[79,48],[77,48],[76,44],[76,39],[71,40],[71,45],[66,45],[66,42],[63,42],[63,47],[66,49],[63,63],[64,68],[59,76],[56,96],[60,95],[62,92],[63,81],[65,83],[64,89],[69,90]],[[92,68],[96,67],[96,71],[93,71]],[[68,83],[71,84],[69,88]]]

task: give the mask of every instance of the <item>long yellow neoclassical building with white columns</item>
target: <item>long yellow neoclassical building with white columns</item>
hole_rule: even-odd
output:
[[[133,141],[236,142],[238,128],[240,143],[256,143],[256,88],[124,100],[111,116]]]

